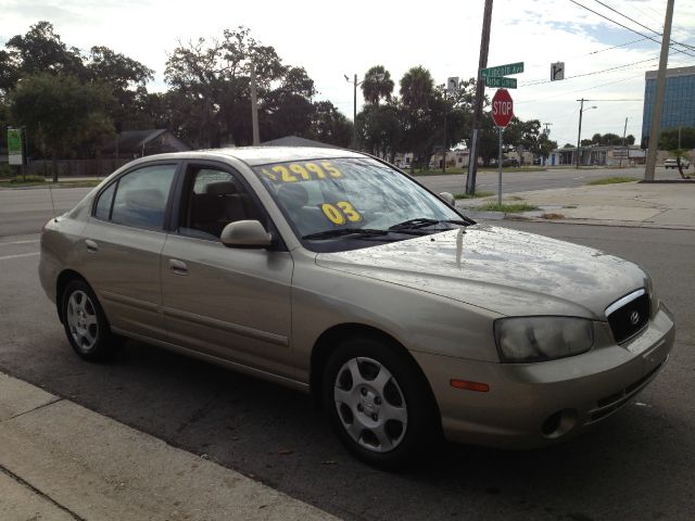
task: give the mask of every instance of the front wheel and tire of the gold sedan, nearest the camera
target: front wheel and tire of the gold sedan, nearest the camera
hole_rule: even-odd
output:
[[[323,401],[348,449],[375,467],[397,469],[431,452],[439,411],[416,363],[371,338],[343,341],[330,355]]]

